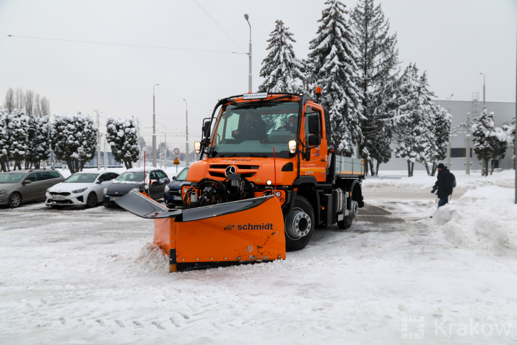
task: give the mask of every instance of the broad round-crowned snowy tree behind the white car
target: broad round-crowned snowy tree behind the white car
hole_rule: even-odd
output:
[[[97,132],[93,119],[81,112],[54,115],[51,134],[54,154],[67,162],[72,174],[82,171],[84,163],[94,158]]]

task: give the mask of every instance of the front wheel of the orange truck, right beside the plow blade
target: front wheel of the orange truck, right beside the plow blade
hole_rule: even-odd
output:
[[[294,201],[293,211],[285,217],[285,250],[295,251],[307,246],[314,232],[314,211],[302,196]]]

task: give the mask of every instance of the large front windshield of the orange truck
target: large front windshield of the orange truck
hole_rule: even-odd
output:
[[[244,103],[245,104],[245,103]],[[222,109],[210,157],[289,157],[288,142],[296,140],[299,102],[230,104]]]

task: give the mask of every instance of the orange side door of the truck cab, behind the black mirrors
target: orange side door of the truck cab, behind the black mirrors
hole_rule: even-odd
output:
[[[303,139],[306,147],[309,147],[309,123],[307,121],[308,115],[317,115],[320,119],[320,133],[318,135],[322,138],[321,145],[311,148],[311,156],[309,160],[305,157],[300,163],[300,176],[314,176],[318,182],[324,182],[327,179],[327,140],[323,133],[325,130],[325,121],[323,121],[323,111],[320,108],[309,107],[305,108],[305,116],[303,116],[303,128],[305,129],[305,138]]]

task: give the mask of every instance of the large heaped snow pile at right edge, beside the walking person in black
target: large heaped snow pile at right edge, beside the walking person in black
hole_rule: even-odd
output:
[[[438,224],[438,230],[448,241],[458,246],[515,255],[514,193],[514,189],[498,186],[468,190],[458,201],[438,208],[432,222]]]

